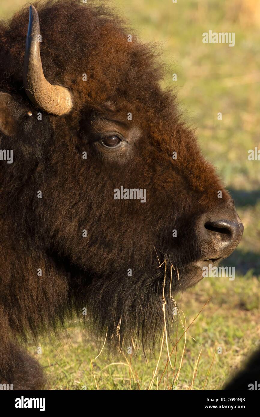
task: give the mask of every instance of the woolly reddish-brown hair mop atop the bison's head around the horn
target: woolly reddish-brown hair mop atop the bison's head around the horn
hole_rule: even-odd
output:
[[[52,84],[71,90],[76,106],[124,97],[138,107],[169,113],[171,95],[159,87],[162,65],[154,45],[128,34],[124,22],[97,2],[58,0],[34,3],[40,18],[43,71]],[[23,59],[28,6],[0,23],[0,88],[18,91],[23,84]],[[86,74],[86,80],[82,80]],[[168,111],[167,111],[168,109]]]

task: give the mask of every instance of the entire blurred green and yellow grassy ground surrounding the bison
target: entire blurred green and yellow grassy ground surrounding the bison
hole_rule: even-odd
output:
[[[25,3],[3,0],[0,17],[10,16]],[[161,43],[170,68],[164,84],[178,88],[187,121],[197,127],[202,150],[217,166],[245,226],[239,248],[225,261],[235,266],[235,280],[204,279],[178,296],[187,325],[211,299],[187,332],[183,362],[184,337],[174,350],[175,372],[168,365],[159,384],[159,389],[191,388],[199,357],[192,388],[203,389],[205,384],[205,389],[219,389],[260,341],[260,161],[247,158],[249,149],[260,149],[260,2],[114,0],[111,6],[129,20],[140,39]],[[209,30],[235,32],[235,46],[203,44],[202,33]],[[173,73],[177,81],[172,81]],[[217,120],[219,112],[222,121]],[[182,313],[176,319],[177,339],[183,332],[181,319]],[[108,359],[102,352],[94,360],[96,346],[75,323],[59,341],[53,337],[39,343],[42,354],[36,355],[33,345],[30,351],[45,366],[50,389],[147,389],[159,357],[156,354],[146,364],[141,354]],[[169,341],[170,348],[174,343]],[[218,347],[222,353],[214,357]],[[163,349],[158,379],[166,362]]]

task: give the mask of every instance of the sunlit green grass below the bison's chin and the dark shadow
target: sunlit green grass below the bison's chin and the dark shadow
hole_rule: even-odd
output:
[[[176,389],[189,389],[191,386],[194,361],[198,359],[201,347],[193,389],[203,389],[205,383],[205,389],[220,389],[227,378],[239,368],[242,359],[245,359],[248,352],[256,349],[260,342],[260,283],[256,278],[245,279],[242,276],[236,277],[235,281],[228,281],[226,278],[205,279],[195,289],[179,296],[181,316],[178,315],[174,323],[175,326],[178,325],[177,340],[184,333],[183,313],[188,327],[208,300],[210,301],[188,329],[184,360]],[[170,351],[175,342],[176,336],[169,341]],[[102,352],[95,360],[99,349],[76,323],[70,323],[68,333],[63,334],[58,341],[56,337],[52,337],[51,341],[41,340],[39,345],[42,347],[42,354],[36,353],[34,345],[30,346],[30,352],[45,367],[49,389],[96,389],[96,386],[98,389],[130,389],[130,361],[131,389],[148,389],[159,357],[158,351],[154,357],[147,358],[146,364],[141,353],[131,357],[124,349],[124,354],[119,357],[107,357]],[[172,355],[172,364],[174,366],[175,363],[176,369],[174,377],[181,363],[183,347],[184,336],[177,345],[177,355],[175,349]],[[220,347],[222,353],[217,353],[220,352]],[[212,364],[215,350],[217,352]],[[115,365],[115,362],[120,364]],[[167,351],[164,346],[158,380],[166,363]],[[173,371],[168,365],[159,389],[171,388],[172,376]],[[153,389],[157,389],[157,378]]]

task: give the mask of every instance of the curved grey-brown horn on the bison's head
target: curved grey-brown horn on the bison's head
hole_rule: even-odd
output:
[[[61,116],[72,108],[71,93],[60,85],[51,85],[43,74],[40,59],[39,16],[30,6],[28,33],[23,65],[23,85],[30,101],[47,113]]]

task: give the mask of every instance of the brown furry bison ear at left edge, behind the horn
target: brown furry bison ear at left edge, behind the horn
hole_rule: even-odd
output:
[[[17,132],[17,123],[12,116],[12,96],[0,93],[0,131],[6,136],[14,136]]]

